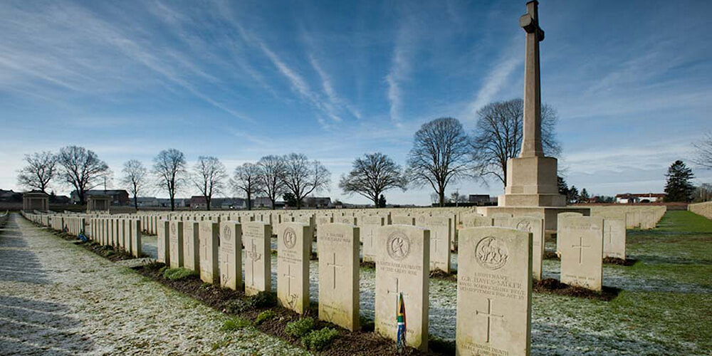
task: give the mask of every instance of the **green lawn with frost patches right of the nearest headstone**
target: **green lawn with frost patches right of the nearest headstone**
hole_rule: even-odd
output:
[[[712,220],[668,211],[627,231],[627,256],[637,263],[603,268],[614,300],[533,295],[533,355],[712,355]]]

